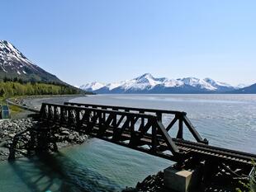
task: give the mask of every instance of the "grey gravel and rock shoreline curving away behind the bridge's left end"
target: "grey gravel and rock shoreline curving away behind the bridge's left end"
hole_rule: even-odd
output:
[[[63,104],[74,98],[84,95],[64,95],[64,96],[27,96],[16,98],[14,104],[26,106],[31,109],[40,110],[40,105],[43,102],[50,102],[55,104]],[[12,111],[11,111],[12,113]],[[28,115],[35,114],[29,110],[21,110],[17,114],[12,115],[11,119],[0,119],[0,162],[7,161],[9,157],[9,149],[11,148],[13,138],[18,134],[28,129],[40,126],[36,119],[29,118]],[[88,136],[80,134],[74,130],[59,128],[54,135],[58,149],[68,148],[70,146],[86,143]],[[29,134],[25,134],[25,140],[29,140]],[[17,158],[25,157],[22,154],[17,154]]]

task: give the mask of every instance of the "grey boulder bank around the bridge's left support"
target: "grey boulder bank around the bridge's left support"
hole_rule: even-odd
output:
[[[29,150],[28,148],[24,148],[26,146],[25,143],[28,143],[32,139],[31,133],[36,128],[40,128],[40,124],[31,118],[0,120],[0,162],[8,160],[12,151],[13,140],[16,137],[18,137],[18,142],[17,148],[15,148],[15,158],[26,157],[24,154]],[[62,148],[86,143],[89,139],[86,134],[62,127],[55,131],[52,138],[54,138],[58,151]]]

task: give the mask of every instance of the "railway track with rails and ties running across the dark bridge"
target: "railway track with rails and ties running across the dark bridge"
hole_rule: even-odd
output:
[[[91,133],[88,134],[92,135],[92,137],[100,138],[111,143],[121,144],[122,146],[126,147],[129,146],[129,143],[123,142],[130,141],[131,136],[129,131],[124,131],[124,133],[121,134],[121,141],[115,142],[111,139],[114,134],[113,128],[108,128],[106,130],[106,133],[100,136],[98,135],[99,129],[99,126],[94,126],[93,129],[91,129]],[[139,134],[139,132],[137,132],[137,134]],[[152,143],[151,137],[152,136],[150,134],[145,134],[143,138],[140,138],[141,143],[140,145],[138,145],[138,147],[141,147],[142,145],[150,145]],[[239,152],[227,148],[219,148],[216,146],[211,146],[203,143],[195,143],[177,138],[173,138],[173,141],[178,146],[178,149],[181,152],[184,152],[185,154],[190,153],[191,156],[200,157],[201,159],[207,158],[211,159],[211,161],[235,162],[235,164],[244,164],[245,166],[253,166],[252,160],[254,160],[254,162],[256,161],[256,155],[249,152]],[[161,136],[159,136],[159,148],[162,148],[162,150],[160,150],[162,152],[168,150],[168,146],[166,143],[164,143],[164,138],[161,138]],[[138,150],[143,151],[141,150],[141,148],[138,148]]]

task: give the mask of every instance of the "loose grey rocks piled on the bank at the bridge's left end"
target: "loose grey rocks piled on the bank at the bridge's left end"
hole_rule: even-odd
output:
[[[12,146],[13,138],[27,129],[39,127],[37,121],[33,119],[4,119],[0,121],[0,161],[7,160],[9,148]],[[60,128],[54,135],[58,148],[64,148],[73,144],[84,143],[88,136],[76,131]],[[30,139],[29,133],[25,133],[22,138],[25,141]],[[21,154],[18,157],[22,157]]]

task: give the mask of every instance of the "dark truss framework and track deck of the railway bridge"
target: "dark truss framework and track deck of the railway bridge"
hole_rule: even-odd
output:
[[[70,102],[64,104],[65,105],[55,105],[44,103],[40,110],[41,119],[47,124],[59,124],[59,126],[65,126],[69,129],[76,129],[79,132],[87,133],[95,138],[100,138],[111,143],[126,146],[127,148],[133,148],[177,162],[193,157],[197,158],[198,161],[211,160],[216,162],[229,162],[230,164],[248,167],[253,166],[252,160],[256,161],[256,155],[249,152],[239,152],[227,148],[215,147],[206,143],[200,143],[198,141],[197,143],[187,141],[180,138],[180,136],[177,136],[177,138],[171,138],[168,135],[168,130],[164,128],[164,125],[162,124],[161,119],[159,119],[157,113],[169,113],[174,115],[177,115],[176,113],[178,113],[186,115],[186,113],[180,111],[150,110],[110,105],[77,104]],[[52,107],[54,107],[54,111]],[[59,107],[59,117],[56,117],[55,114],[57,107]],[[87,121],[84,121],[83,118],[80,119],[81,111],[84,111],[84,114],[82,115],[83,117],[86,117],[86,113],[92,113],[94,116],[92,119],[90,119],[88,116]],[[138,111],[138,113],[134,111]],[[97,114],[94,114],[94,112]],[[146,114],[145,112],[151,112],[155,115]],[[43,115],[44,113],[46,114],[45,117]],[[61,119],[63,115],[66,116],[64,116],[64,119]],[[114,116],[111,117],[111,119],[109,116],[106,118],[106,115]],[[111,124],[113,119],[116,118],[115,120],[117,121],[117,116],[115,115],[121,115],[121,118],[126,115],[126,123],[123,124],[121,128],[118,127],[119,124],[117,127],[115,127],[116,124]],[[144,127],[142,127],[141,130],[135,130],[134,125],[139,118],[147,118],[153,122],[151,122],[152,124],[149,124],[148,127],[143,123]],[[71,120],[71,123],[69,120]],[[189,130],[192,132],[194,127],[192,126],[191,122],[187,119],[187,117],[183,118],[183,120],[186,125],[191,127]],[[79,124],[79,129],[77,128],[78,122],[76,121],[81,123]],[[142,131],[143,128],[146,129],[145,132]],[[152,128],[152,133],[148,133],[149,128]],[[116,133],[120,133],[118,138],[115,138]],[[145,148],[145,145],[148,145],[149,148]],[[168,150],[172,152],[172,155],[164,153]],[[178,152],[176,152],[176,150],[178,150]]]

